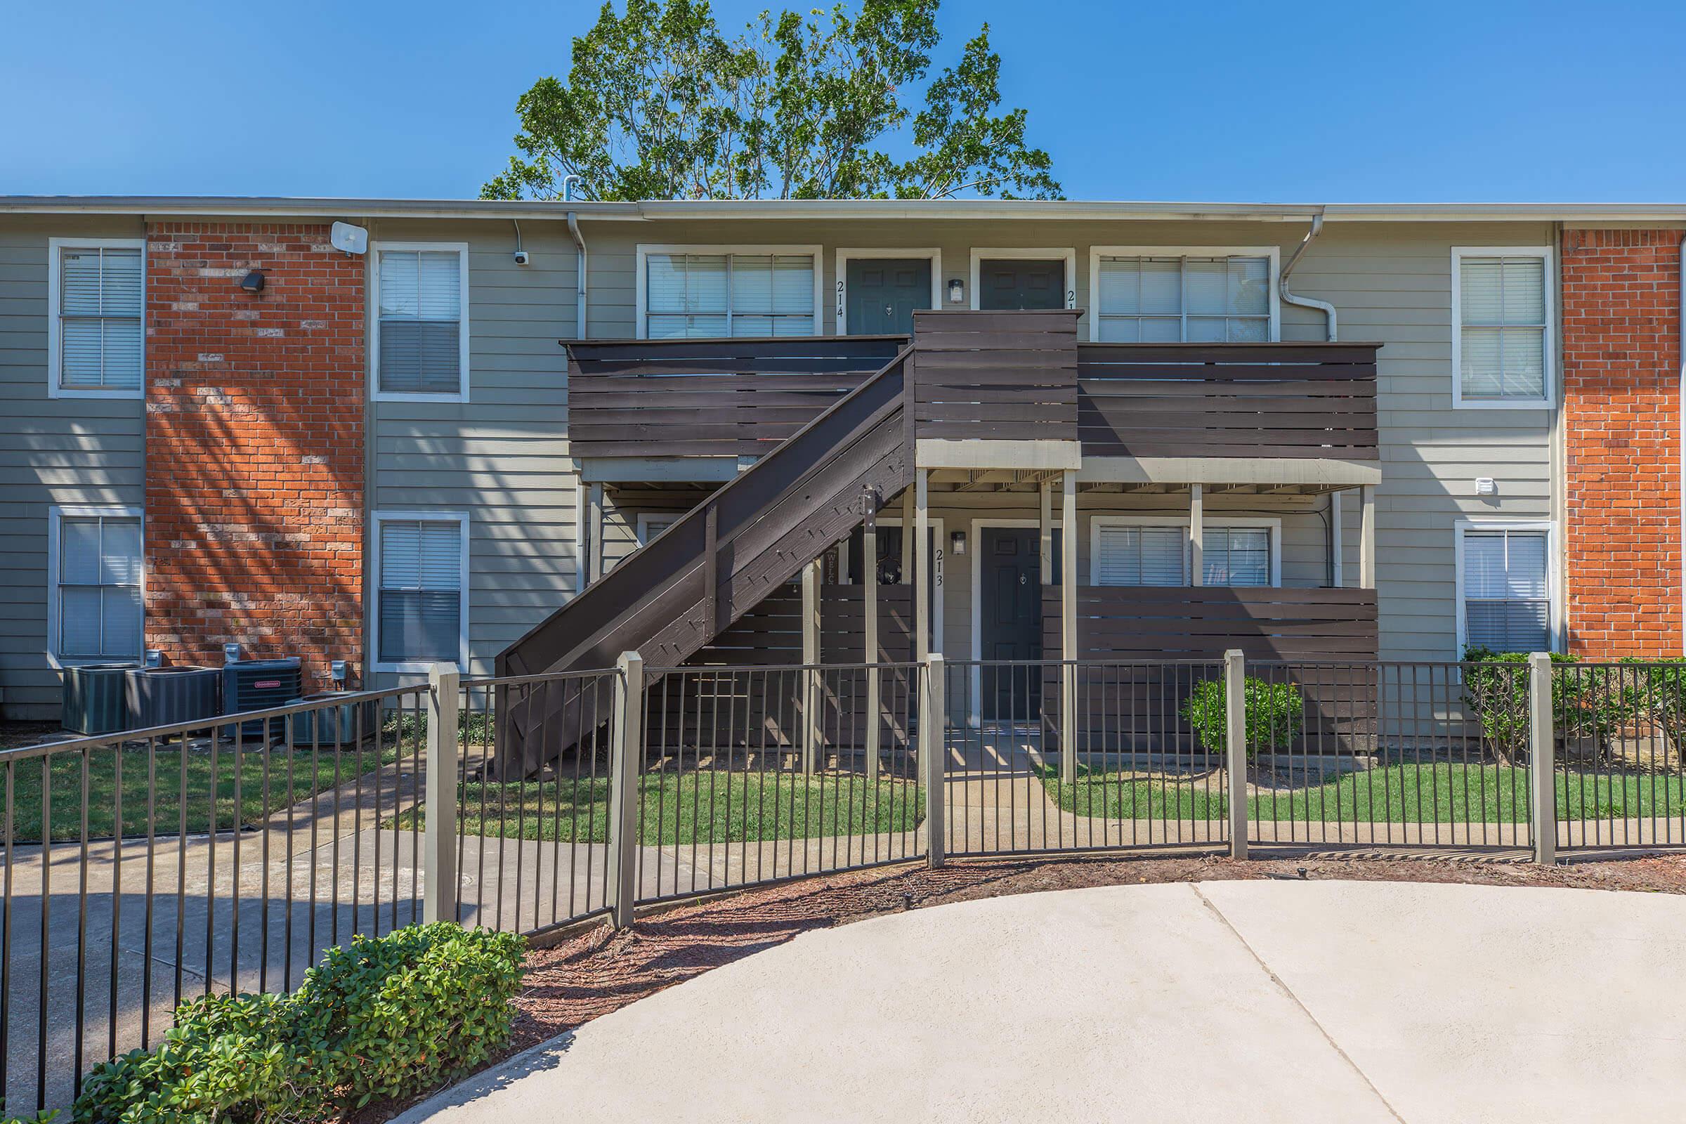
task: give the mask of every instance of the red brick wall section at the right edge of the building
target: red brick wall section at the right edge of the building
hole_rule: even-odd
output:
[[[1570,650],[1681,652],[1681,231],[1563,233]]]

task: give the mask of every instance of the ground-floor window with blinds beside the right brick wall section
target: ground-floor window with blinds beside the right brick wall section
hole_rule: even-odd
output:
[[[1544,531],[1463,533],[1463,642],[1495,652],[1551,650]]]

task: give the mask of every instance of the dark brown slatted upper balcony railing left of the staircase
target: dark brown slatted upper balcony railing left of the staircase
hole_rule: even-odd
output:
[[[902,337],[568,344],[575,457],[764,455],[889,364]]]

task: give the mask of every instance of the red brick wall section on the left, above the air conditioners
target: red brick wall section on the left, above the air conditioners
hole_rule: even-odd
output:
[[[172,662],[238,640],[309,689],[362,659],[364,263],[327,239],[147,231],[147,647]]]

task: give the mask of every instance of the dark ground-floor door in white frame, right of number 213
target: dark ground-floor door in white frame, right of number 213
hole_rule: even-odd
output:
[[[1042,561],[1035,527],[983,527],[978,549],[980,650],[986,661],[1042,659]],[[1059,573],[1059,539],[1054,541]],[[1040,667],[985,667],[985,718],[1035,718],[1042,703]]]

